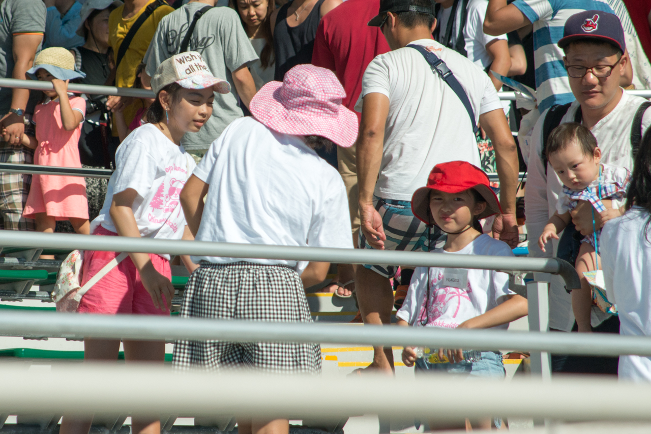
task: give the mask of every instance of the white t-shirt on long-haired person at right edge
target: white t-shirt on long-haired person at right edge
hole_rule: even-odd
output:
[[[603,278],[617,305],[620,334],[651,336],[651,238],[648,211],[633,207],[602,229]],[[651,381],[651,357],[620,356],[620,379]]]

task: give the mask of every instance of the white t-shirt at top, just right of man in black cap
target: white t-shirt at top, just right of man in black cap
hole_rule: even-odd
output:
[[[491,36],[484,33],[486,8],[488,8],[488,0],[470,0],[464,27],[465,51],[468,59],[484,70],[493,63],[493,58],[486,51],[486,45],[496,39],[507,40],[506,34]]]

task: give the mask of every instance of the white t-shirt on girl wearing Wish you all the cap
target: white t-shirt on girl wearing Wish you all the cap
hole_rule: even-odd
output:
[[[176,146],[152,124],[133,130],[118,147],[116,169],[109,180],[104,206],[90,224],[90,233],[101,224],[117,232],[109,210],[113,195],[134,189],[138,195],[132,210],[141,237],[181,239],[186,216],[179,195],[188,173],[196,166],[183,146]],[[169,255],[161,254],[169,259]]]

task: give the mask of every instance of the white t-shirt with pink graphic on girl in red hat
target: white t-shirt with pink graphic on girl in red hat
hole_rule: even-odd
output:
[[[446,252],[443,249],[436,249],[435,252],[513,256],[504,241],[493,239],[486,234],[478,236],[458,252]],[[499,271],[417,267],[411,277],[407,297],[402,308],[396,313],[396,318],[404,319],[415,327],[455,329],[465,320],[480,316],[501,305],[508,299],[508,295],[512,294],[515,293],[508,289],[508,275]],[[503,324],[493,328],[507,327],[508,324]]]

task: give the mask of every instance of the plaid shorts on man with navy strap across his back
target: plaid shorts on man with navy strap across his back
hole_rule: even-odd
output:
[[[385,250],[400,250],[408,252],[428,252],[434,250],[436,241],[441,237],[441,230],[436,226],[428,228],[411,212],[411,202],[408,200],[373,198],[375,209],[382,217],[382,227],[387,239],[384,241]],[[363,232],[359,231],[360,249],[373,249]],[[364,265],[379,275],[392,278],[396,275],[398,265]]]

